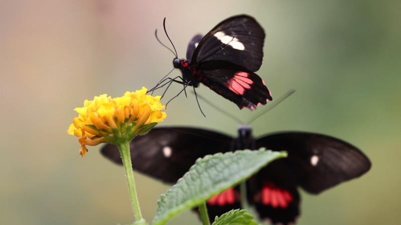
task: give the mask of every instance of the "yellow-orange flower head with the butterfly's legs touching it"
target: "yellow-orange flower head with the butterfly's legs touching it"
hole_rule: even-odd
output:
[[[146,90],[142,87],[116,98],[102,94],[93,100],[85,100],[83,107],[74,109],[78,117],[73,119],[67,132],[80,137],[82,157],[88,151],[86,145],[130,141],[167,116],[161,112],[165,105],[160,103],[160,96],[146,95]]]

